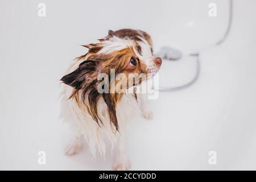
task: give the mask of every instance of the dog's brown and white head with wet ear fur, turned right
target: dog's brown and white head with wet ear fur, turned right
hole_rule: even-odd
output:
[[[88,52],[77,57],[83,61],[61,81],[73,87],[70,98],[75,98],[79,105],[84,104],[98,124],[102,121],[98,117],[97,101],[102,96],[109,109],[110,121],[118,130],[115,114],[118,101],[128,88],[154,76],[162,59],[152,55],[151,45],[143,37],[138,36],[136,40],[120,38],[109,31],[109,35],[99,41],[84,46]]]

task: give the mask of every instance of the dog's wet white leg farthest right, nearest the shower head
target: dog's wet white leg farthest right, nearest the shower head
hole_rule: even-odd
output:
[[[139,108],[141,109],[142,117],[146,119],[152,119],[153,113],[148,107],[148,105],[146,104],[147,102],[146,94],[138,94],[137,99],[138,99]]]

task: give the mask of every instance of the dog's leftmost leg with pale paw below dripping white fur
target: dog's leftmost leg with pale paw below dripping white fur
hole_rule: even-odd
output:
[[[73,139],[71,143],[68,144],[67,148],[65,149],[66,155],[74,155],[77,154],[82,150],[82,135],[78,135]]]

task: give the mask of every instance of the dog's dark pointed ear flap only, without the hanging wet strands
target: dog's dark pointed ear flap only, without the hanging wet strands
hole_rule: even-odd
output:
[[[92,75],[95,75],[95,72],[97,72],[97,66],[97,61],[85,60],[75,71],[63,76],[60,80],[63,81],[64,84],[79,90],[82,88],[83,84],[94,80]]]

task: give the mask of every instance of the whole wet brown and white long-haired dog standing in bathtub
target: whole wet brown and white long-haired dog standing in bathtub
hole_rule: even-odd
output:
[[[64,85],[60,117],[75,126],[77,136],[65,152],[67,155],[79,152],[82,139],[85,138],[94,157],[97,150],[104,156],[106,137],[112,143],[112,148],[117,143],[114,169],[127,170],[130,167],[125,148],[127,123],[139,114],[144,118],[151,118],[152,113],[142,94],[113,92],[113,88],[116,85],[128,85],[125,89],[121,86],[125,91],[141,84],[158,72],[162,59],[152,55],[152,40],[141,30],[110,30],[108,36],[98,40],[98,43],[84,46],[89,49],[88,52],[77,57],[70,65],[67,75],[61,78]],[[111,69],[114,70],[114,76],[123,73],[129,78],[130,73],[138,73],[137,75],[145,74],[146,77],[140,77],[131,86],[130,81],[125,79],[105,78],[104,84],[108,82],[109,86],[101,85],[104,92],[99,92],[99,75],[110,76]]]

